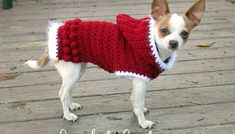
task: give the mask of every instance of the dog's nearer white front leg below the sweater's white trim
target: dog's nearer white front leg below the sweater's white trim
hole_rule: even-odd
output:
[[[133,91],[131,95],[131,101],[133,104],[134,113],[138,118],[139,125],[142,128],[152,128],[155,126],[155,123],[145,120],[144,116],[144,100],[147,82],[141,79],[134,79],[132,84]]]

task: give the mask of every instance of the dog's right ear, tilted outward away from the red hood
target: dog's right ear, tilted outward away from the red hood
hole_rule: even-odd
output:
[[[201,18],[205,12],[205,5],[205,0],[199,0],[186,12],[185,15],[191,21],[193,27],[201,22]]]

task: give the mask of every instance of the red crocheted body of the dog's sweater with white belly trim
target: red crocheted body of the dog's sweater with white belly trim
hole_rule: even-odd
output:
[[[164,68],[151,50],[149,25],[150,17],[134,19],[124,14],[117,16],[117,24],[66,21],[58,28],[57,57],[67,62],[93,63],[119,76],[154,79]]]

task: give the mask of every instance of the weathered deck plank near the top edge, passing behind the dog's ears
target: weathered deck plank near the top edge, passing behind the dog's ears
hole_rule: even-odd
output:
[[[77,4],[77,5],[75,5]],[[214,2],[212,5],[208,4],[207,5],[207,12],[206,14],[210,14],[210,12],[226,12],[226,11],[230,11],[233,12],[235,10],[235,8],[233,6],[224,8],[224,6],[216,6],[219,5],[221,3],[218,2]],[[190,6],[192,5],[192,3],[185,3],[181,4],[181,3],[170,3],[170,9],[172,12],[185,12]],[[95,6],[95,7],[94,7]],[[42,10],[42,7],[44,8],[44,10]],[[24,9],[24,10],[18,10],[18,9]],[[42,5],[42,4],[37,4],[34,5],[33,8],[31,8],[30,6],[20,6],[20,7],[16,7],[16,9],[13,9],[13,11],[11,12],[4,12],[4,14],[6,15],[17,15],[17,14],[21,14],[21,15],[39,15],[39,16],[43,16],[43,13],[48,13],[48,16],[55,14],[55,12],[59,12],[60,14],[65,14],[65,13],[77,13],[77,14],[89,14],[88,16],[90,16],[91,14],[93,14],[94,12],[97,14],[102,14],[102,16],[107,15],[107,13],[105,13],[105,11],[111,11],[111,13],[133,13],[133,11],[138,11],[139,13],[143,13],[143,14],[149,14],[149,9],[150,9],[150,3],[136,3],[135,6],[133,6],[133,2],[132,4],[128,4],[125,2],[124,5],[122,6],[118,6],[116,3],[112,3],[111,6],[100,6],[100,5],[96,5],[96,3],[91,3],[91,4],[81,4],[81,3],[69,3],[66,5],[66,8],[64,7],[64,4],[54,4],[54,5]],[[18,10],[18,12],[14,12],[14,10]],[[96,15],[97,15],[96,14]],[[93,14],[94,15],[94,14]],[[45,16],[45,15],[44,15]],[[46,16],[45,16],[46,17]],[[80,16],[81,17],[81,16]],[[1,15],[0,13],[0,18],[8,18],[10,19],[10,17]],[[2,21],[4,21],[2,19]]]

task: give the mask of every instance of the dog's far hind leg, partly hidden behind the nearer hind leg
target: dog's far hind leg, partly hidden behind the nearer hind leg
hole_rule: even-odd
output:
[[[81,79],[83,74],[86,72],[86,68],[87,68],[87,64],[86,63],[82,63],[78,79]],[[70,93],[69,93],[69,108],[70,108],[70,110],[79,110],[79,109],[82,109],[82,106],[80,104],[77,104],[77,103],[73,102],[72,90],[70,90]]]

